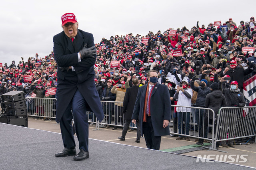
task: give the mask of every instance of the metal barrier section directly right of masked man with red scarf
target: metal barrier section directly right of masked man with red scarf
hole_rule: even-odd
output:
[[[212,141],[214,148],[214,129],[216,129],[216,119],[214,111],[202,107],[176,106],[172,112],[170,121],[170,134],[183,137],[192,137]],[[210,113],[210,114],[209,114]]]

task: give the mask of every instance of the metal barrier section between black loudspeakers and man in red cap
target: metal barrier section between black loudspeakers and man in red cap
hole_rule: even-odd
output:
[[[51,120],[56,118],[55,98],[26,97],[28,116]]]

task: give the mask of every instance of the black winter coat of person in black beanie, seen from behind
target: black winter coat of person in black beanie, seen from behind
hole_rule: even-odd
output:
[[[225,96],[222,94],[221,90],[214,90],[212,93],[206,95],[205,98],[205,107],[210,108],[214,111],[214,117],[217,118],[217,114],[221,107],[227,107],[227,101]],[[209,111],[209,115],[207,114],[210,119],[212,119],[212,112]]]

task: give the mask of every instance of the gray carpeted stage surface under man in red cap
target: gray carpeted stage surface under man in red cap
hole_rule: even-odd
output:
[[[196,163],[196,158],[190,156],[94,139],[89,139],[90,158],[86,160],[74,161],[72,156],[54,156],[62,150],[61,134],[0,123],[1,170],[247,169],[222,162]]]

